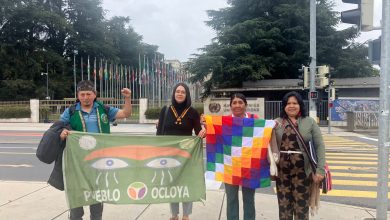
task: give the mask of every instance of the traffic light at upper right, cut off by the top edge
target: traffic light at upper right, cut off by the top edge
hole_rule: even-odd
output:
[[[357,9],[341,12],[341,22],[356,24],[361,31],[373,30],[374,0],[342,0],[344,3],[357,4]]]

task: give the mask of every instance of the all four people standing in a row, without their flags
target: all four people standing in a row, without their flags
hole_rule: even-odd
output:
[[[131,114],[131,92],[124,88],[122,95],[125,104],[122,109],[107,107],[96,101],[96,91],[90,81],[81,81],[77,85],[76,105],[67,108],[60,120],[68,122],[72,130],[84,132],[109,133],[109,123],[115,119],[126,118]],[[258,118],[246,111],[247,100],[241,93],[230,98],[232,117]],[[314,119],[308,117],[302,97],[296,92],[287,93],[282,99],[279,118],[275,119],[274,138],[280,152],[275,176],[279,204],[279,219],[309,219],[310,186],[320,182],[325,175],[325,146],[320,129]],[[295,129],[294,129],[295,128]],[[318,168],[313,171],[308,155],[303,149],[305,143],[298,139],[297,132],[305,142],[313,141],[318,156]],[[69,129],[63,129],[60,137],[66,139]],[[195,132],[199,137],[206,136],[199,113],[191,107],[191,95],[185,83],[178,83],[172,92],[170,106],[161,109],[157,124],[157,135],[186,135]],[[306,143],[307,144],[307,143]],[[225,184],[227,198],[227,219],[239,219],[239,186]],[[241,187],[244,209],[244,220],[256,218],[254,195],[255,190]],[[183,220],[188,220],[192,213],[192,202],[184,202]],[[179,219],[179,204],[170,204],[170,220]],[[102,218],[103,204],[90,206],[91,219]],[[83,207],[70,210],[70,219],[82,219]]]

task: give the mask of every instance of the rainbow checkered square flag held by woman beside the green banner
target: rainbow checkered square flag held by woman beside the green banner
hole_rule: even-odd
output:
[[[271,185],[267,147],[273,120],[205,116],[206,178],[252,189]]]

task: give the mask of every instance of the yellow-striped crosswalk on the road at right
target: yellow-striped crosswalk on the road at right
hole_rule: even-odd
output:
[[[375,199],[378,184],[377,146],[334,136],[324,136],[324,142],[333,190],[323,196]],[[390,193],[388,197],[390,199]]]

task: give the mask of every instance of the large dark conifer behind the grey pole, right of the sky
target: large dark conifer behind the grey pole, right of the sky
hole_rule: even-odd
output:
[[[230,0],[229,4],[208,11],[207,24],[217,37],[190,59],[192,80],[205,81],[207,95],[212,88],[241,87],[248,80],[297,78],[301,65],[309,63],[309,0]],[[334,77],[372,75],[372,66],[351,45],[357,30],[337,31],[339,18],[332,7],[328,0],[317,1],[317,64],[336,71],[340,67]],[[341,73],[347,52],[354,54],[348,56],[350,62],[361,68],[344,68]]]

